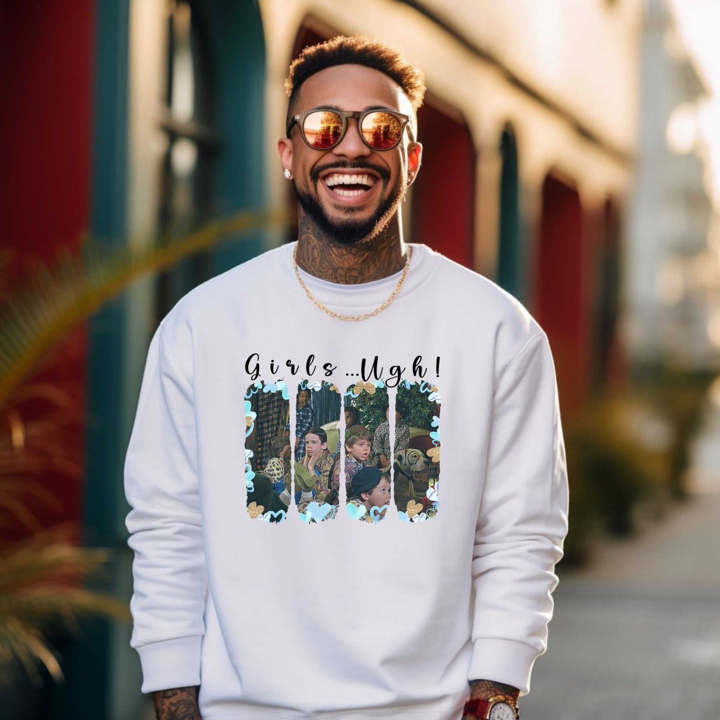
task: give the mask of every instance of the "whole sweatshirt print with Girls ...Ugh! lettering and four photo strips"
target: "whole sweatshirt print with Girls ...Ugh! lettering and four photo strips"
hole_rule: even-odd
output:
[[[332,362],[320,365],[310,354],[307,363],[288,359],[286,377],[277,377],[282,363],[271,360],[271,381],[262,379],[262,364],[258,354],[246,361],[251,518],[279,523],[294,504],[300,521],[318,524],[336,519],[344,505],[351,521],[375,524],[395,515],[393,501],[400,522],[437,516],[439,356],[393,365],[360,357],[355,367],[336,372]],[[355,378],[352,384],[340,384],[343,375]]]

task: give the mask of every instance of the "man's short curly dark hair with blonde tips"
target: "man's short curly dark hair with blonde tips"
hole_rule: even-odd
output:
[[[402,88],[415,112],[423,104],[423,71],[415,63],[406,60],[400,50],[365,35],[338,35],[319,45],[310,45],[302,50],[299,58],[292,61],[285,81],[285,91],[289,96],[288,118],[292,117],[300,87],[307,78],[336,65],[362,65],[378,70]]]

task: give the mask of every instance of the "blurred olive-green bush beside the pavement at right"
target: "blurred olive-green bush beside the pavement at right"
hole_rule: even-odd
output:
[[[568,564],[588,560],[598,536],[633,534],[685,498],[690,446],[716,372],[657,363],[567,423]]]

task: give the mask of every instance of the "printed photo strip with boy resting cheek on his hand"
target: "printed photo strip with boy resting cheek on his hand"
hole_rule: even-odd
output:
[[[294,500],[305,523],[332,520],[338,492],[330,487],[340,428],[340,390],[323,381],[301,380],[295,397]]]

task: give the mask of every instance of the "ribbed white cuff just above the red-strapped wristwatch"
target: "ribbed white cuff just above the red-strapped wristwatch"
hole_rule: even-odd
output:
[[[474,642],[468,680],[495,680],[530,692],[530,673],[539,651],[523,642],[481,637]]]

